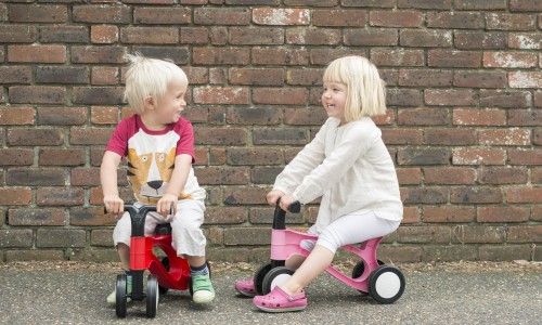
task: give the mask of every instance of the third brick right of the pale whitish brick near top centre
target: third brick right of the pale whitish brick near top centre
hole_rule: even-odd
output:
[[[481,13],[465,12],[428,12],[427,27],[430,28],[469,28],[479,29],[483,26]]]

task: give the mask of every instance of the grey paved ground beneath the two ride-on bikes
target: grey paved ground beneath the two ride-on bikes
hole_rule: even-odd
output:
[[[408,271],[406,288],[393,304],[378,304],[330,275],[307,288],[309,307],[297,313],[257,311],[233,289],[251,272],[216,272],[217,299],[201,308],[188,291],[160,298],[157,316],[145,303],[129,304],[118,320],[105,303],[115,273],[95,270],[0,268],[2,324],[541,324],[542,268],[485,272]]]

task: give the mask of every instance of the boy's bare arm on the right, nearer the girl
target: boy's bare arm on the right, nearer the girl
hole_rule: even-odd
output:
[[[166,194],[164,194],[156,205],[156,211],[164,218],[167,217],[171,207],[173,208],[173,214],[177,213],[177,200],[184,190],[184,185],[186,185],[191,168],[191,155],[180,154],[175,158],[175,168],[168,187],[166,188]]]

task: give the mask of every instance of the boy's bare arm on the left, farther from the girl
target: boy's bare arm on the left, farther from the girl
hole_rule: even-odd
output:
[[[124,202],[118,195],[117,168],[120,155],[106,151],[100,167],[100,182],[102,184],[103,202],[109,213],[121,214],[125,211]]]

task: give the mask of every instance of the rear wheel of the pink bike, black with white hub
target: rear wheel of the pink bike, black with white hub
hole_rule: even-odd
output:
[[[369,294],[380,303],[392,303],[404,291],[404,276],[399,269],[380,265],[369,275]]]

